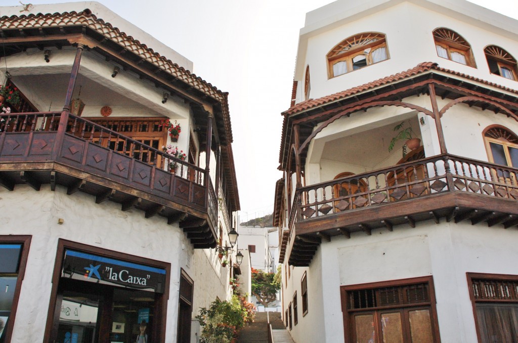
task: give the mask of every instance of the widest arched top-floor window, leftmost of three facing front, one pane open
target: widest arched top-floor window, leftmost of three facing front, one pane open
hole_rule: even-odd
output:
[[[329,78],[389,59],[385,35],[364,32],[341,41],[327,54]]]

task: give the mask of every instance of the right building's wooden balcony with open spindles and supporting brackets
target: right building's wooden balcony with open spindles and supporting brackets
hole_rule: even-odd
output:
[[[401,224],[445,218],[516,226],[517,180],[516,168],[442,154],[299,188],[290,264],[309,265],[322,239]]]

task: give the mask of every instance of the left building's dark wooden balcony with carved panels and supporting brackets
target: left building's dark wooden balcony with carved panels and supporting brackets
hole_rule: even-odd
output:
[[[63,119],[68,118],[68,119]],[[60,123],[61,120],[61,123]],[[175,173],[167,166],[176,165]],[[217,196],[207,171],[99,124],[61,112],[0,115],[0,184],[41,184],[179,222],[194,248],[216,245]]]

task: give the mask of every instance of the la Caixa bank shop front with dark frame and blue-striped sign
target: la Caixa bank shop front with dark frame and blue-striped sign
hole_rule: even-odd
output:
[[[46,341],[164,342],[169,274],[165,262],[60,240]]]

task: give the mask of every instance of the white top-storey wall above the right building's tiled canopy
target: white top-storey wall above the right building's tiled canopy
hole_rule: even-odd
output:
[[[295,80],[300,85],[297,103],[304,101],[307,65],[311,74],[310,98],[340,92],[422,62],[437,62],[441,67],[516,87],[515,81],[490,74],[484,48],[497,45],[516,58],[518,22],[465,1],[374,0],[361,4],[338,1],[315,10],[308,18],[300,31],[297,54]],[[471,44],[476,68],[437,55],[432,34],[437,27],[447,27]],[[343,39],[362,32],[385,34],[390,59],[328,79],[326,54]]]

